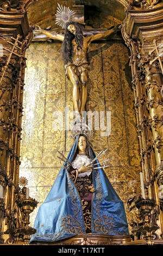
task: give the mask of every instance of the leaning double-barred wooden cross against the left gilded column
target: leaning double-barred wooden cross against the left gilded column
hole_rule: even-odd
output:
[[[0,85],[1,85],[1,83],[2,83],[2,80],[3,80],[3,77],[4,77],[5,71],[7,70],[7,67],[8,67],[8,65],[9,65],[9,62],[10,62],[10,59],[11,59],[12,54],[15,54],[15,55],[16,55],[16,56],[18,56],[18,57],[22,57],[20,54],[18,54],[18,53],[16,53],[16,52],[14,52],[15,48],[18,48],[18,49],[20,49],[20,50],[21,50],[21,47],[19,47],[19,46],[17,46],[17,45],[16,45],[16,44],[17,44],[17,42],[19,42],[19,43],[21,44],[21,41],[19,41],[19,40],[18,40],[19,38],[20,38],[20,35],[17,35],[17,38],[13,38],[13,37],[11,37],[11,39],[12,39],[12,40],[15,40],[15,42],[14,42],[14,43],[13,43],[13,42],[8,41],[8,43],[9,43],[9,44],[13,45],[13,47],[12,47],[12,49],[11,49],[11,50],[3,47],[3,49],[4,49],[4,50],[6,50],[6,51],[10,52],[10,55],[9,55],[9,58],[8,58],[7,64],[4,66],[4,71],[3,71],[3,75],[2,75],[2,77],[1,77]]]

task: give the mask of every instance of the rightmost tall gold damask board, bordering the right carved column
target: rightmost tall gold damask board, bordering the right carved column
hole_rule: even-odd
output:
[[[118,59],[120,60],[120,76],[122,85],[122,97],[125,113],[129,164],[140,168],[139,142],[137,137],[136,115],[134,114],[134,94],[131,94],[131,71],[129,69],[128,49],[123,44],[117,44]]]

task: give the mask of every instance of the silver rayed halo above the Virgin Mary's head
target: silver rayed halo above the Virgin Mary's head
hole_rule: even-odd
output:
[[[77,123],[76,125],[74,125],[71,129],[71,138],[76,139],[77,136],[83,133],[84,135],[86,135],[86,137],[89,139],[91,138],[91,129],[90,127],[85,124],[85,123]]]

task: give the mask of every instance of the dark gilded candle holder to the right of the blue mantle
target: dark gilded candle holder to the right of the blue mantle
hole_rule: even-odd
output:
[[[144,235],[148,245],[154,244],[153,233],[159,229],[155,220],[152,220],[152,210],[155,206],[155,201],[152,199],[141,199],[136,202],[136,207],[137,209],[140,209],[143,218],[143,225],[140,227],[140,231]]]

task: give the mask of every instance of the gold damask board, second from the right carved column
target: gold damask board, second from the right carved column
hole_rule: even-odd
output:
[[[105,107],[106,111],[111,111],[111,134],[108,138],[109,149],[114,157],[114,166],[121,166],[121,159],[127,162],[128,154],[117,44],[108,45],[108,49],[106,48],[102,52],[102,56]]]

